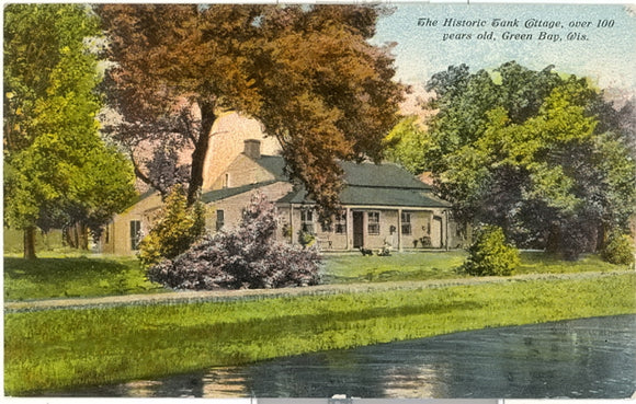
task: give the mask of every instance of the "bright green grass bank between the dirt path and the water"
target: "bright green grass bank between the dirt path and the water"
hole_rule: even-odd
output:
[[[30,395],[457,331],[636,312],[636,274],[260,301],[8,313],[4,389]]]

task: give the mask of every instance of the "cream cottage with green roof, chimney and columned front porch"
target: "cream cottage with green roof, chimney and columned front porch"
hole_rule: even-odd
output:
[[[311,234],[325,251],[448,249],[465,243],[465,229],[450,217],[450,204],[393,163],[342,162],[342,210],[331,226],[318,222],[315,203],[304,187],[285,175],[280,155],[261,154],[261,140],[247,139],[243,152],[227,164],[202,195],[207,208],[206,227],[215,232],[237,226],[241,210],[258,189],[275,201],[280,213],[280,240],[298,243],[298,231]],[[104,253],[132,254],[161,206],[158,194],[145,195],[106,228]],[[117,224],[118,223],[118,224]]]

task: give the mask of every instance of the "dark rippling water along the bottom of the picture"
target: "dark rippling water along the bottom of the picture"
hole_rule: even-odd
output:
[[[636,391],[634,335],[636,315],[487,328],[64,395],[624,399]]]

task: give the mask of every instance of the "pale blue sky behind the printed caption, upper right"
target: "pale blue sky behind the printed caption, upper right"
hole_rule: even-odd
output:
[[[424,83],[451,65],[466,64],[470,71],[477,71],[515,60],[533,70],[554,65],[557,71],[589,77],[603,89],[636,92],[635,5],[397,3],[393,7],[391,15],[381,18],[372,42],[397,43],[393,54],[397,78],[402,82]],[[452,23],[447,19],[453,19]],[[498,22],[503,24],[493,26]],[[545,34],[541,39],[542,32]],[[514,37],[515,34],[520,36]]]

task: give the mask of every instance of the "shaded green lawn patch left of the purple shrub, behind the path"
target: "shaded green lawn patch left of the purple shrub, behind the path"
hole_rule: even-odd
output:
[[[154,293],[164,290],[146,279],[135,257],[104,258],[50,253],[48,256],[34,261],[4,257],[4,300]]]

